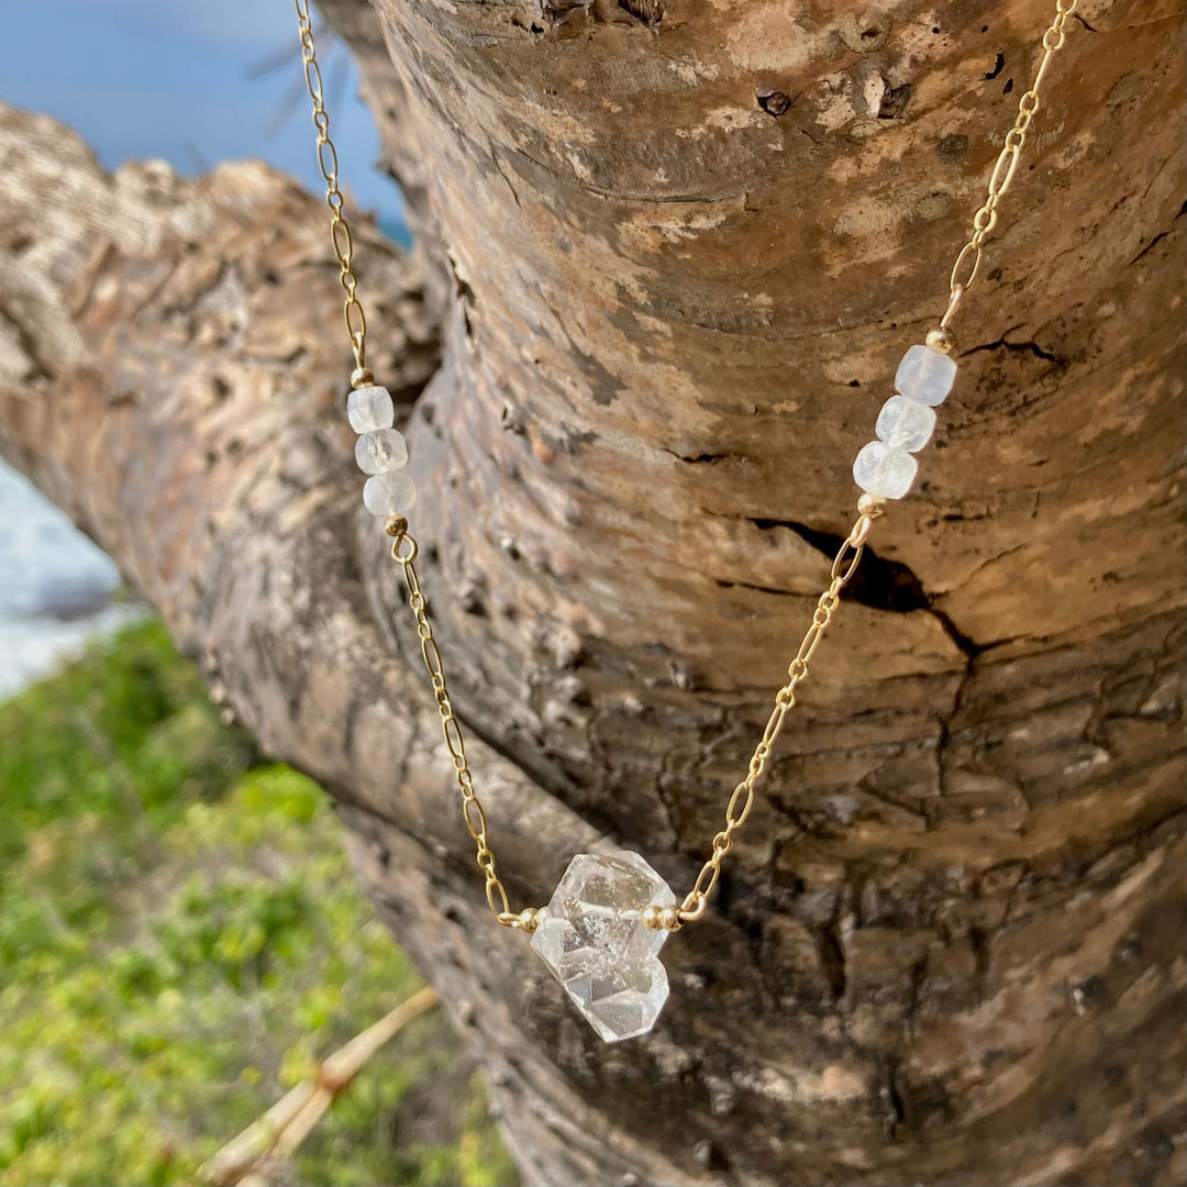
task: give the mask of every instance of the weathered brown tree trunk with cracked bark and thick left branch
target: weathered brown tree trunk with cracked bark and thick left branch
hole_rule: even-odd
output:
[[[362,287],[501,869],[540,903],[611,837],[684,888],[1046,6],[374,8],[326,5],[421,248],[362,234]],[[609,1048],[485,914],[317,203],[0,118],[0,447],[335,794],[529,1182],[1187,1173],[1182,17],[1083,8],[922,481]]]

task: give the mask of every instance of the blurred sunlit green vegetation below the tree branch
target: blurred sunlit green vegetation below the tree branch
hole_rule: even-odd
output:
[[[0,705],[0,1185],[188,1183],[420,980],[320,789],[159,623]],[[301,1147],[303,1183],[515,1181],[439,1011]]]

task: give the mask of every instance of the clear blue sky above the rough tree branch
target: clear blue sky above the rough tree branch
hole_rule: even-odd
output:
[[[163,157],[192,176],[203,164],[262,157],[322,191],[309,96],[292,90],[292,0],[19,0],[5,9],[0,99],[71,125],[109,167]],[[286,50],[283,68],[250,76]],[[354,65],[342,45],[319,42],[318,51],[343,188],[391,223],[399,192],[373,167],[379,140]]]

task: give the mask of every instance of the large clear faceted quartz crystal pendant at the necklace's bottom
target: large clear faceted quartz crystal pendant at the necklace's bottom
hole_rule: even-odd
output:
[[[637,853],[578,853],[552,895],[532,947],[605,1042],[646,1034],[667,1001],[656,953],[666,931],[642,921],[645,907],[677,902]]]

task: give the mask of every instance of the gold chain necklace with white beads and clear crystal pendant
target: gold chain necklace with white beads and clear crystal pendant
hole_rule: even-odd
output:
[[[313,103],[317,160],[325,179],[325,201],[331,215],[330,239],[345,293],[343,316],[355,358],[347,415],[351,429],[358,433],[355,458],[368,475],[363,503],[383,521],[385,531],[392,537],[392,557],[402,571],[421,658],[440,712],[442,732],[453,760],[462,795],[462,817],[475,844],[475,861],[482,872],[487,903],[499,923],[532,937],[533,948],[603,1040],[609,1042],[646,1034],[654,1026],[668,996],[667,973],[659,951],[672,932],[704,918],[721,876],[722,863],[734,845],[735,833],[750,814],[767,760],[787,713],[795,705],[796,688],[807,677],[808,665],[840,605],[842,590],[861,564],[870,528],[884,514],[887,503],[902,499],[915,480],[918,463],[914,455],[931,439],[937,421],[935,408],[947,398],[956,381],[952,319],[979,273],[985,240],[997,223],[998,204],[1014,179],[1030,123],[1039,110],[1040,88],[1052,57],[1064,45],[1077,0],[1055,0],[1055,15],[1042,36],[1042,56],[1034,81],[1018,100],[1017,116],[1005,134],[990,173],[985,201],[973,215],[972,231],[952,266],[947,307],[925,342],[912,345],[903,355],[894,377],[894,394],[878,413],[875,439],[862,447],[853,462],[853,480],[863,491],[857,500],[857,519],[832,561],[829,585],[817,599],[812,622],[787,667],[787,680],[775,692],[762,737],[750,757],[745,776],[726,802],[724,826],[713,837],[710,855],[692,889],[683,899],[678,897],[639,853],[627,850],[578,853],[570,862],[547,907],[528,907],[520,912],[512,910],[507,890],[499,877],[485,812],[475,789],[465,756],[465,738],[450,699],[444,662],[427,614],[427,599],[420,588],[418,545],[407,519],[417,497],[415,485],[405,472],[407,444],[393,427],[395,408],[392,396],[375,383],[367,368],[367,318],[357,296],[354,242],[338,189],[338,158],[330,139],[330,118],[325,110],[309,0],[294,0],[294,5],[305,82]]]

